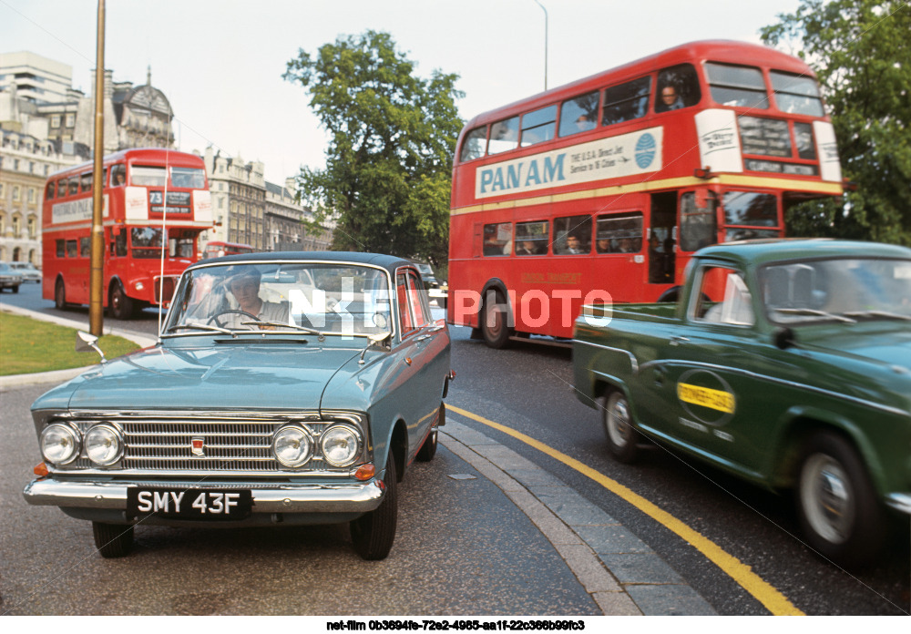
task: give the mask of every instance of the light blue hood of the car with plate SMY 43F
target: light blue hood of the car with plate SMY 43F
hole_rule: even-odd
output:
[[[158,346],[105,363],[61,388],[71,391],[67,406],[73,409],[317,409],[326,383],[359,353],[351,346],[302,343]],[[66,397],[61,388],[51,400]]]

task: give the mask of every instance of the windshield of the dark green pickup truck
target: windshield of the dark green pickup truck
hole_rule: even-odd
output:
[[[760,271],[759,281],[773,322],[911,321],[911,260],[773,264]]]

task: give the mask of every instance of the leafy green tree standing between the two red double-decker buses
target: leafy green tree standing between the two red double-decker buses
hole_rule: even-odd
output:
[[[391,36],[340,36],[303,50],[284,78],[300,82],[329,133],[325,169],[303,168],[302,199],[336,222],[333,248],[444,264],[455,141],[457,75],[415,76]]]

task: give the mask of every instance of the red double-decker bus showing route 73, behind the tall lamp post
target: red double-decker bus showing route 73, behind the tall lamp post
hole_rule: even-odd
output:
[[[47,179],[42,296],[57,308],[89,302],[94,167],[84,163]],[[202,158],[163,148],[105,157],[102,183],[104,305],[128,319],[167,304],[180,273],[197,260],[199,234],[214,226],[209,184]]]

